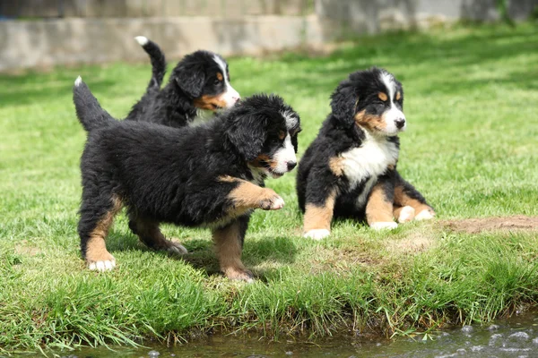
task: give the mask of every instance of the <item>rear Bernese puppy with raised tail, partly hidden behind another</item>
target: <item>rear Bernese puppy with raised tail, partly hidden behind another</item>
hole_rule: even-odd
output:
[[[221,55],[196,51],[186,55],[172,71],[168,84],[161,89],[166,60],[161,48],[149,38],[136,41],[150,56],[152,79],[143,97],[134,105],[127,120],[183,127],[202,111],[229,108],[239,100],[230,84],[228,64]]]

